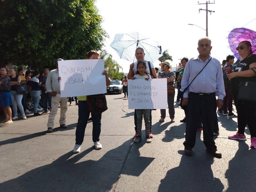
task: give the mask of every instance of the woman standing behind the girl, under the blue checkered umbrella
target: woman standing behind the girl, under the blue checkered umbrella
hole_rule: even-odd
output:
[[[151,68],[151,71],[152,71],[152,75],[154,76],[154,78],[157,78],[157,75],[156,75],[156,69],[154,68],[154,65],[151,61],[146,61],[144,60],[144,57],[145,57],[145,53],[144,53],[144,50],[141,48],[141,47],[138,47],[135,51],[135,57],[137,59],[136,62],[132,63],[130,65],[130,70],[129,70],[129,73],[127,75],[127,78],[128,79],[131,79],[131,77],[133,77],[136,72],[137,72],[137,64],[139,61],[144,61],[146,63],[146,73],[150,74],[150,68]],[[148,65],[148,62],[150,64],[150,67]],[[150,115],[149,115],[149,121],[150,121],[150,130],[149,130],[149,136],[151,138],[153,138],[153,134],[151,132],[151,126],[152,126],[152,115],[151,115],[151,110],[150,110]],[[136,114],[136,111],[134,111],[134,129],[135,129],[135,135],[134,137],[137,137],[138,136],[138,133],[137,133],[137,114]]]

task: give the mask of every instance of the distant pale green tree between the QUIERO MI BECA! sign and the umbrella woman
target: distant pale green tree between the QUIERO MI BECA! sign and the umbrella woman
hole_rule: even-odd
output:
[[[100,52],[100,58],[104,60],[104,67],[108,72],[110,79],[123,79],[124,73],[123,68],[117,63],[116,60],[112,59],[112,55],[106,50]],[[122,69],[122,72],[119,72]]]

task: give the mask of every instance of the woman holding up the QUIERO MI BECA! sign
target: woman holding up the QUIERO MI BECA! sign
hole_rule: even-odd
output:
[[[100,54],[96,51],[89,51],[87,53],[86,59],[100,59]],[[110,85],[110,80],[108,78],[108,72],[104,70],[102,75],[106,77],[106,85]],[[84,141],[84,132],[90,116],[90,111],[87,107],[86,95],[78,97],[78,122],[76,126],[76,144],[73,149],[74,153],[79,153],[81,150],[81,145]],[[92,141],[94,143],[95,149],[101,149],[100,144],[100,130],[101,130],[101,113],[98,115],[92,114]]]

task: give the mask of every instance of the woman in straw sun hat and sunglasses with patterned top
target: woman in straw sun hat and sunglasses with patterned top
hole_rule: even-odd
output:
[[[160,63],[159,66],[162,68],[163,72],[159,73],[158,78],[167,78],[167,85],[173,85],[173,81],[175,78],[175,74],[173,71],[171,71],[171,66],[168,61],[164,61],[163,63]],[[169,115],[171,118],[171,123],[174,123],[174,96],[175,96],[175,90],[173,95],[167,95],[167,103],[168,103],[168,109],[169,109]],[[161,112],[161,119],[159,119],[160,122],[164,122],[164,119],[166,117],[166,110],[160,109]]]

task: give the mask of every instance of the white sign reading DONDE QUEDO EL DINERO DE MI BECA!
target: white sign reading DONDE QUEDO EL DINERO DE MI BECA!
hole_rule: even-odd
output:
[[[129,109],[167,109],[167,79],[128,80]]]

